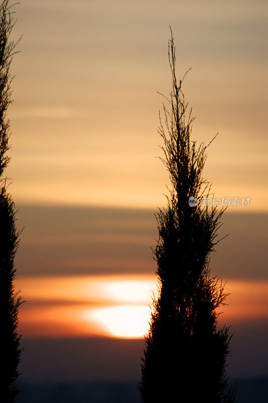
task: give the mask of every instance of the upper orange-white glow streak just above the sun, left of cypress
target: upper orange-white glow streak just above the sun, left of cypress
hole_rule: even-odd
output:
[[[38,293],[36,284],[38,283]],[[98,304],[148,304],[157,294],[155,276],[27,277],[17,280],[27,299],[80,301]]]

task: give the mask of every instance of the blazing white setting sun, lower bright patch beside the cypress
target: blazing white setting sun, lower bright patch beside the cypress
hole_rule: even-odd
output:
[[[116,337],[142,338],[149,328],[149,306],[124,305],[85,312],[84,317],[103,324]]]

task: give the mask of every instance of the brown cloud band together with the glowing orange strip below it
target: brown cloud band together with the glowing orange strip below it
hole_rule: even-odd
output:
[[[25,337],[141,337],[156,282],[154,211],[21,206],[18,217],[18,228],[27,223],[16,257]],[[211,260],[213,275],[228,279],[231,292],[223,318],[264,320],[267,214],[226,213],[223,223],[219,236],[229,236]],[[130,311],[135,329],[124,320],[112,326]]]

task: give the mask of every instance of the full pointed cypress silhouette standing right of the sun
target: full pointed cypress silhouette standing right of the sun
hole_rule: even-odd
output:
[[[202,176],[208,146],[190,141],[193,118],[186,111],[183,79],[176,79],[172,31],[168,55],[172,92],[165,97],[169,107],[163,104],[165,122],[160,117],[159,133],[171,186],[167,208],[157,214],[159,296],[142,359],[141,401],[231,403],[236,400],[236,388],[228,387],[226,375],[231,337],[228,327],[217,326],[217,308],[227,294],[209,268],[224,210],[189,205],[189,197],[200,200],[210,194]]]

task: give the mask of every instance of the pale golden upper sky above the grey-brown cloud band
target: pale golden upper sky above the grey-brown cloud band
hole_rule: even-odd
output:
[[[12,193],[17,203],[165,203],[158,111],[171,25],[193,140],[209,142],[219,197],[267,210],[267,4],[263,0],[24,1],[16,6]]]

